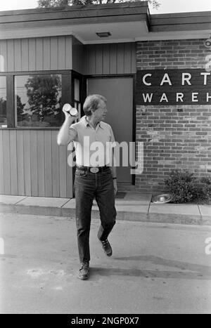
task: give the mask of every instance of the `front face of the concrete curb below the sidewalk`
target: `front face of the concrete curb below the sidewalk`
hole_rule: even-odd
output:
[[[1,214],[32,214],[37,216],[60,216],[75,218],[75,209],[46,206],[26,206],[19,204],[0,204]],[[98,209],[92,209],[92,218],[99,218]],[[117,211],[117,220],[148,223],[173,223],[185,225],[211,225],[211,216],[187,214],[156,214],[137,211]]]

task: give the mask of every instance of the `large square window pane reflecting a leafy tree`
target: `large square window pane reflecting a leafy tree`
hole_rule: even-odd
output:
[[[15,76],[15,126],[60,126],[61,75]]]

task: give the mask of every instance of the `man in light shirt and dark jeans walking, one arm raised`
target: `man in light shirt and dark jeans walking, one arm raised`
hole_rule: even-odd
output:
[[[106,117],[106,98],[100,95],[88,96],[84,102],[85,116],[72,124],[75,116],[65,113],[65,122],[58,133],[58,145],[75,143],[75,200],[77,243],[80,268],[78,277],[89,277],[89,231],[91,224],[91,207],[94,197],[98,204],[101,226],[98,240],[101,241],[107,256],[112,255],[108,235],[115,225],[115,194],[117,192],[116,168],[113,150],[108,145],[115,143],[113,131],[109,124],[103,122]],[[96,151],[94,148],[98,148]]]

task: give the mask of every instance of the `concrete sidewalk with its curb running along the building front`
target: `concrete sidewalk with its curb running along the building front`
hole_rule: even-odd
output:
[[[118,192],[117,220],[211,225],[211,205],[154,204],[151,194]],[[75,218],[75,199],[0,195],[0,212]],[[96,202],[92,218],[98,218]]]

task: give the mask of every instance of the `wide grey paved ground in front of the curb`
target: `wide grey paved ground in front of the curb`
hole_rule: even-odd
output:
[[[81,281],[74,219],[1,214],[1,313],[211,313],[210,226],[117,221],[108,258],[98,225]]]

